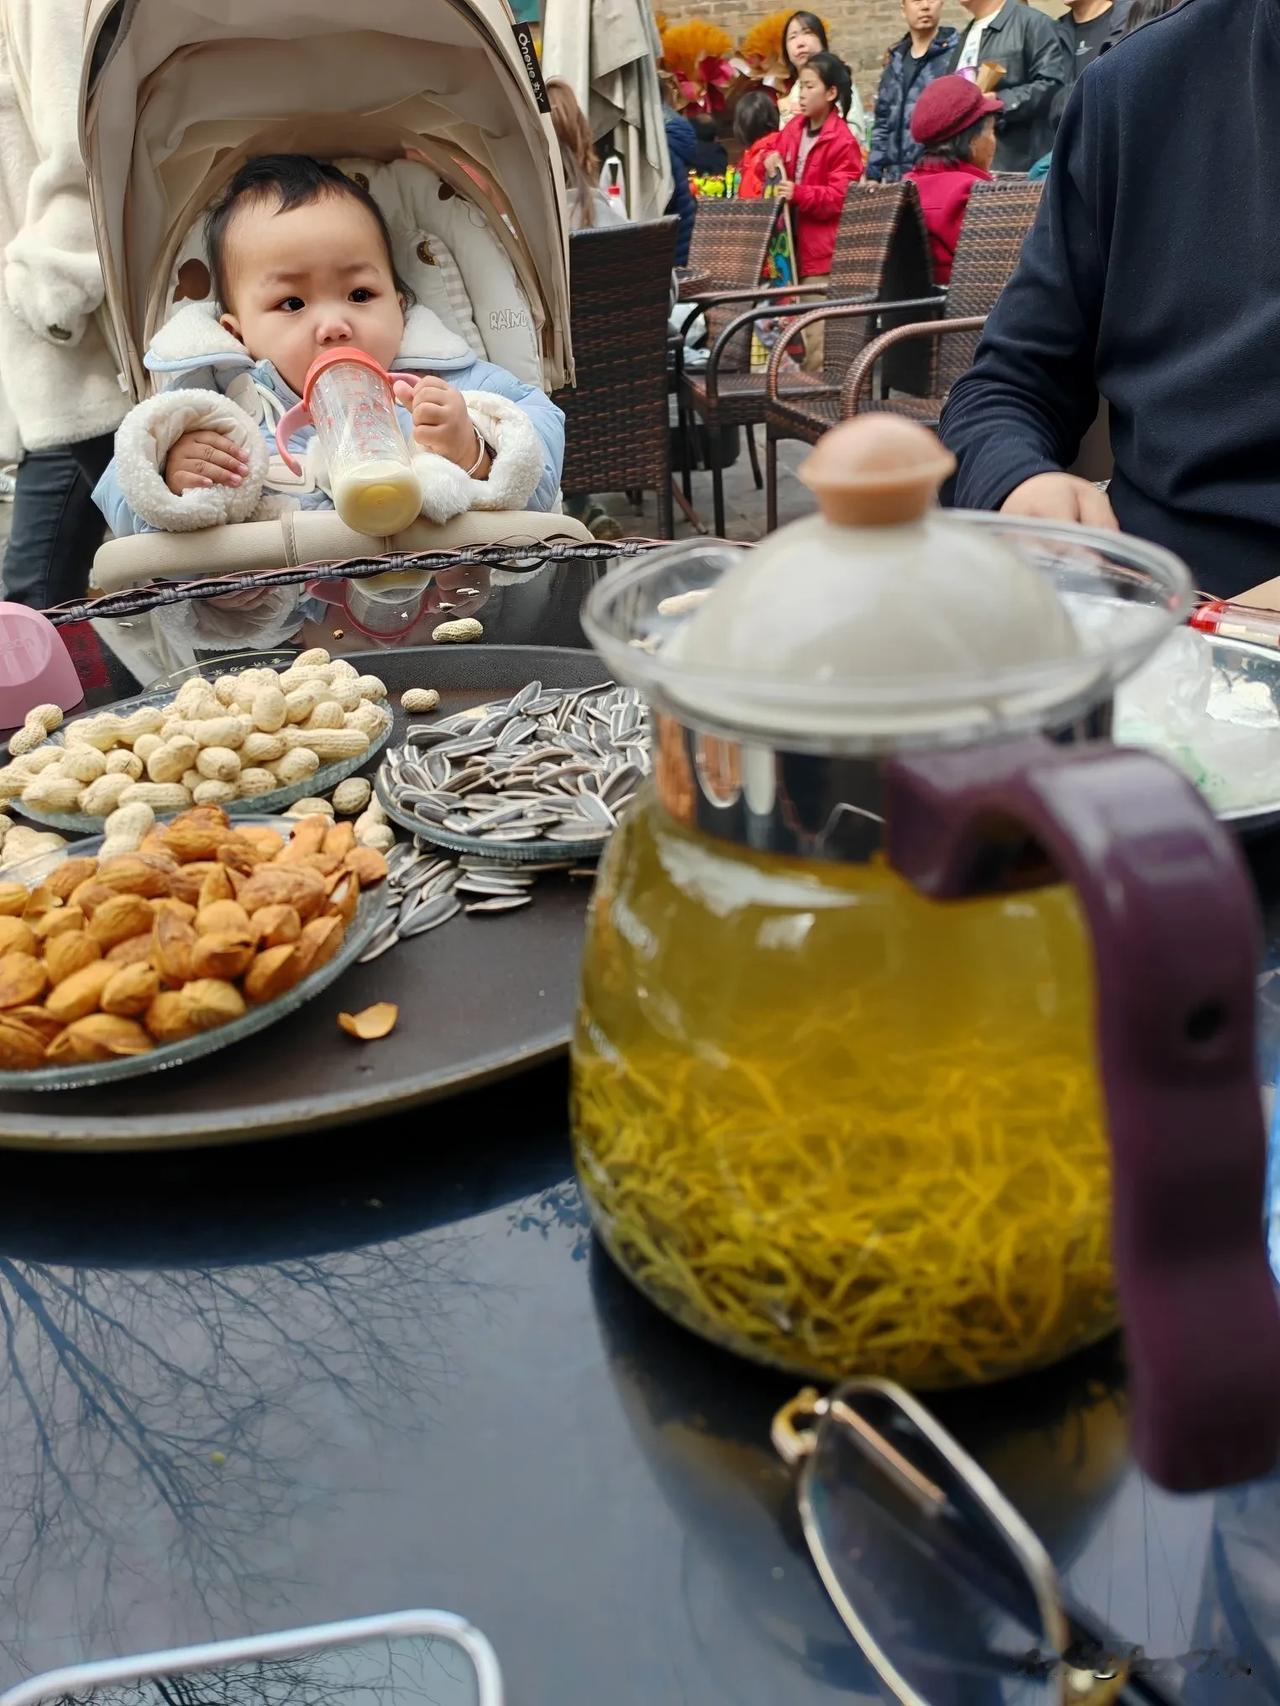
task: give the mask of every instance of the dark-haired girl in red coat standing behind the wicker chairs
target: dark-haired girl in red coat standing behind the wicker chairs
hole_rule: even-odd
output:
[[[800,68],[797,89],[800,111],[778,140],[778,194],[792,205],[800,283],[811,285],[831,275],[845,191],[862,177],[862,148],[845,123],[852,85],[843,60],[814,53]],[[823,328],[806,333],[804,345],[806,370],[821,372]]]

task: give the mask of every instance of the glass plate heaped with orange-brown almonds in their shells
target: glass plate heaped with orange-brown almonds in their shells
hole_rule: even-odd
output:
[[[140,802],[142,804],[142,802]],[[369,947],[384,856],[314,815],[193,807],[0,873],[0,1088],[111,1083],[295,1012]]]

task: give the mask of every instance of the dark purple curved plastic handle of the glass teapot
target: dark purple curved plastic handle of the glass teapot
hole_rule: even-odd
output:
[[[1133,1450],[1174,1491],[1265,1474],[1280,1448],[1280,1303],[1263,1235],[1260,928],[1234,841],[1161,759],[1038,739],[896,759],[886,815],[893,867],[934,899],[983,892],[993,851],[1027,839],[1075,889]]]

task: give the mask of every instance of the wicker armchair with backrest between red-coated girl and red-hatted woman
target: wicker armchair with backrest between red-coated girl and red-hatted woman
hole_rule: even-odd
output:
[[[928,247],[913,184],[852,184],[845,196],[836,234],[829,281],[817,287],[826,302],[874,302],[891,288],[894,295],[920,293],[928,288]],[[785,293],[792,302],[797,290]],[[724,426],[751,426],[765,420],[765,374],[749,365],[727,370],[725,355],[749,336],[756,321],[778,316],[771,304],[756,305],[722,328],[712,343],[712,357],[701,372],[684,374],[683,408],[710,428],[712,488],[715,532],[724,534],[724,478],[715,447]],[[826,343],[823,374],[806,375],[802,384],[814,392],[840,396],[850,362],[862,348],[872,321],[840,322]],[[778,338],[778,345],[788,336]]]

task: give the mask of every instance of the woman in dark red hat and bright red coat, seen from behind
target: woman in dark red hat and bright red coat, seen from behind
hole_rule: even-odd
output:
[[[920,193],[934,278],[940,285],[951,283],[969,191],[976,183],[992,181],[995,114],[1002,111],[1004,102],[983,94],[968,77],[939,77],[915,104],[911,136],[925,152],[906,179]]]

